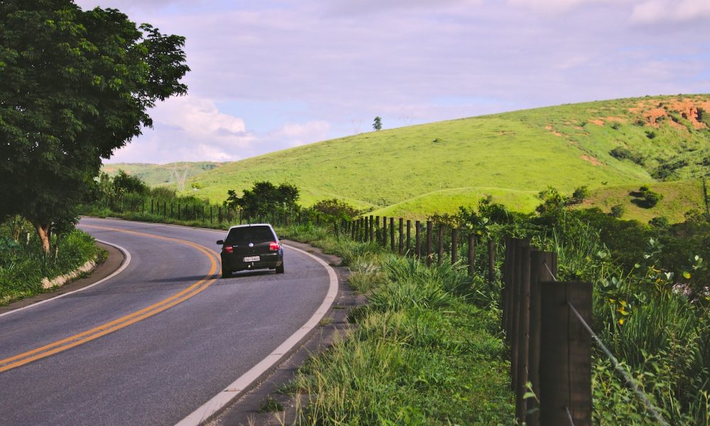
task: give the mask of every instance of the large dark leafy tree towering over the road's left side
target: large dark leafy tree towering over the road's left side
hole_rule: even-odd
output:
[[[0,220],[28,219],[48,253],[102,158],[152,126],[155,102],[187,93],[184,44],[116,9],[0,1]]]

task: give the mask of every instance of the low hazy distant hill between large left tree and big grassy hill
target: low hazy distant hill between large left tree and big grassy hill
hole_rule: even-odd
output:
[[[177,180],[185,178],[194,178],[200,173],[213,170],[222,165],[222,163],[212,163],[202,161],[199,163],[168,163],[168,164],[147,164],[147,163],[113,163],[104,164],[102,171],[110,176],[115,176],[119,170],[124,170],[131,176],[141,178],[151,186],[158,185],[176,185]],[[185,172],[187,171],[187,175]],[[177,186],[176,186],[177,187]],[[190,185],[187,185],[190,188]]]

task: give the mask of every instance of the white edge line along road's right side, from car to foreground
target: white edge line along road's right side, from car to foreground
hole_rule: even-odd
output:
[[[325,298],[321,303],[320,307],[318,307],[315,314],[310,317],[310,320],[303,324],[302,327],[297,330],[297,332],[292,334],[288,339],[286,339],[282,344],[280,344],[276,349],[274,349],[271,354],[268,354],[266,358],[261,360],[258,364],[256,364],[256,366],[253,366],[249,371],[244,373],[241,377],[237,378],[236,381],[232,382],[229,386],[227,386],[224,391],[215,395],[211,400],[207,401],[207,403],[204,403],[200,408],[197,408],[197,410],[193,411],[190,415],[180,420],[180,422],[178,422],[175,426],[201,425],[202,422],[209,419],[209,417],[212,416],[214,413],[217,413],[217,411],[222,410],[225,405],[229,404],[231,400],[239,396],[239,394],[244,391],[244,389],[249,386],[253,381],[255,381],[259,376],[261,376],[261,374],[263,374],[265,371],[271,368],[271,366],[276,364],[276,362],[281,359],[284,354],[293,349],[293,347],[296,346],[296,344],[298,344],[298,342],[300,342],[301,339],[306,336],[306,334],[308,334],[319,324],[320,320],[322,320],[322,318],[330,309],[330,306],[333,304],[335,297],[338,294],[338,276],[336,275],[334,269],[331,268],[321,258],[313,256],[307,251],[296,249],[292,246],[286,246],[285,244],[284,246],[288,247],[288,249],[290,250],[299,251],[300,253],[303,253],[306,256],[314,258],[328,272],[328,276],[330,279],[328,293],[325,295]]]

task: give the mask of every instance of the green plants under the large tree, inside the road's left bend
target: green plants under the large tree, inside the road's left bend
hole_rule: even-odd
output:
[[[0,306],[53,290],[43,287],[44,278],[51,280],[104,256],[92,236],[79,229],[50,239],[53,252],[48,255],[26,220],[14,217],[0,224]]]

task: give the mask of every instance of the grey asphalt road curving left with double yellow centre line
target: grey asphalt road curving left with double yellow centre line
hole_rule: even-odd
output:
[[[104,283],[0,316],[1,425],[174,425],[312,320],[332,279],[288,246],[283,275],[221,279],[224,234],[80,227],[131,261]]]

